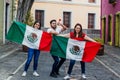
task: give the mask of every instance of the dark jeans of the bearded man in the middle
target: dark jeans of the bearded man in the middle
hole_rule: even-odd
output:
[[[59,60],[59,57],[58,56],[54,56],[54,55],[52,55],[52,58],[54,60],[54,63],[53,63],[53,66],[52,66],[51,73],[55,73],[56,71],[57,72],[59,71],[59,68],[62,66],[62,64],[64,63],[64,61],[66,59],[60,58],[61,60]]]

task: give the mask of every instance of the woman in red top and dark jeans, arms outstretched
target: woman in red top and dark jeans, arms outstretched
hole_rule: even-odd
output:
[[[82,25],[77,23],[74,27],[74,32],[70,32],[69,34],[65,35],[66,37],[72,38],[72,39],[76,39],[79,41],[84,41],[84,40],[88,40],[88,41],[92,41],[92,42],[96,42],[95,40],[91,39],[90,37],[88,37],[86,34],[84,34],[82,32]],[[70,79],[70,75],[73,69],[73,66],[75,64],[75,60],[70,60],[70,64],[69,64],[69,69],[67,72],[67,75],[64,77],[64,79]],[[81,64],[81,73],[82,73],[82,78],[85,79],[85,62],[80,61]]]

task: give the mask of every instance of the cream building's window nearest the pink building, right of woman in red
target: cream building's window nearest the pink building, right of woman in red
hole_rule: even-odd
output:
[[[95,14],[94,13],[88,13],[88,29],[95,28]]]

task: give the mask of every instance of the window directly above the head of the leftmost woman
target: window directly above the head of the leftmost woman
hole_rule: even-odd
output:
[[[44,11],[35,10],[35,20],[40,22],[40,26],[44,26]]]

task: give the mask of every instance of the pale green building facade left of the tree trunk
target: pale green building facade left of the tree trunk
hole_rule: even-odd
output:
[[[13,20],[14,0],[0,0],[0,44],[6,42],[5,36]]]

